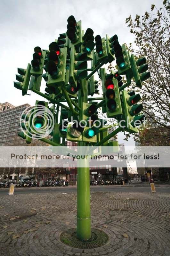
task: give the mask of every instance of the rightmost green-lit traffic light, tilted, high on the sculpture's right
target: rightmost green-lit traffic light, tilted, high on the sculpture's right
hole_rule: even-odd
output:
[[[125,74],[127,71],[129,71],[131,69],[126,46],[125,46],[125,44],[122,46],[119,44],[117,35],[114,35],[109,40],[110,40],[111,46],[113,46],[113,50],[115,52],[118,73],[119,73],[119,75]]]

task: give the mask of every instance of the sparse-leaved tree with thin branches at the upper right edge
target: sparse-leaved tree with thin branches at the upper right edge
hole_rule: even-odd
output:
[[[170,38],[169,38],[169,1],[163,1],[163,7],[157,9],[151,5],[151,12],[145,12],[133,20],[126,19],[130,32],[134,34],[137,49],[131,51],[139,58],[146,56],[150,79],[142,82],[138,88],[142,97],[144,112],[153,123],[170,129]],[[134,84],[132,84],[134,86]]]

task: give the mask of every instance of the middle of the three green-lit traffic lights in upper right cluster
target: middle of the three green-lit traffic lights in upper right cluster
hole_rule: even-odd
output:
[[[98,65],[100,62],[105,61],[107,58],[107,49],[105,38],[101,38],[100,35],[97,35],[95,38],[96,53],[94,55],[95,62]]]

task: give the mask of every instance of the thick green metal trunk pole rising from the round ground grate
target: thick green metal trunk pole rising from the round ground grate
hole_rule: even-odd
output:
[[[83,79],[80,83],[84,88],[84,92],[83,96],[81,91],[78,92],[79,121],[83,119],[83,102],[87,103],[87,82]],[[85,143],[80,141],[78,146],[85,146]],[[87,241],[91,238],[90,171],[88,159],[79,159],[77,165],[80,165],[77,167],[77,238]]]

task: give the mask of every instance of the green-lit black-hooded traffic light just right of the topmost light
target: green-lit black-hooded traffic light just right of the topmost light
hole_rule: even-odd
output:
[[[93,33],[93,30],[88,28],[82,37],[82,50],[87,54],[91,54],[95,46]]]

